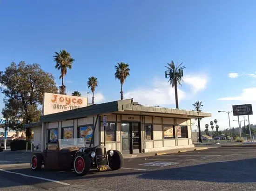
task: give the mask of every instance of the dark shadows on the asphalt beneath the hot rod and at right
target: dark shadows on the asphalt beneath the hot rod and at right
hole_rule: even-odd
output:
[[[49,178],[58,181],[74,183],[74,180],[92,180],[93,178],[107,178],[107,177],[119,177],[128,175],[138,175],[138,178],[150,180],[197,180],[197,181],[210,181],[218,183],[250,183],[256,182],[256,158],[255,159],[243,159],[234,160],[227,162],[214,162],[195,166],[185,166],[185,167],[174,167],[162,170],[153,171],[139,171],[139,172],[127,172],[127,170],[118,171],[107,171],[107,172],[97,172],[90,171],[86,176],[77,177],[72,171],[69,172],[55,172],[47,171],[42,168],[41,171],[35,172],[30,168],[20,168],[8,170],[11,172],[24,173],[26,175]],[[5,174],[3,174],[5,173]],[[39,180],[36,178],[29,178],[25,181],[20,175],[14,175],[7,172],[0,172],[0,176],[5,176],[13,178],[13,181],[20,181],[19,185],[31,185],[47,182],[46,180]],[[8,178],[8,179],[9,179]],[[13,185],[2,185],[0,188],[8,187]]]

